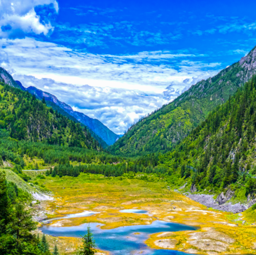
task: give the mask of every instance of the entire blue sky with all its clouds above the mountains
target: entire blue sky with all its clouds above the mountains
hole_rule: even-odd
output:
[[[255,1],[1,0],[0,66],[116,133],[256,45]]]

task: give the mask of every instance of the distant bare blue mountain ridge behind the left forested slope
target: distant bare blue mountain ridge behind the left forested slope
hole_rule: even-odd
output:
[[[69,117],[70,119],[74,118],[78,122],[87,126],[92,131],[91,133],[94,138],[96,138],[104,148],[107,147],[107,145],[113,144],[119,139],[119,135],[116,135],[108,127],[103,125],[103,123],[101,123],[99,120],[90,118],[83,113],[79,113],[78,111],[74,111],[71,106],[65,104],[64,102],[60,102],[54,95],[41,91],[40,89],[37,89],[33,86],[25,88],[21,84],[21,82],[14,81],[12,76],[2,67],[0,67],[0,80],[15,88],[20,88],[23,91],[28,91],[30,94],[35,95],[35,97],[40,100],[43,100],[44,97],[47,104],[53,107],[55,110],[60,111],[60,109],[62,109],[62,114],[64,114],[63,111],[65,111],[67,113],[67,117]]]

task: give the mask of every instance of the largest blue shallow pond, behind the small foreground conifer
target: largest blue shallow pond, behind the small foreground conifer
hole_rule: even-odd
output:
[[[40,230],[42,230],[42,232],[45,234],[53,236],[80,237],[87,232],[87,226],[88,223],[73,227],[51,227],[50,225],[44,225],[40,228]],[[169,223],[160,220],[156,220],[150,225],[124,226],[108,230],[100,229],[99,226],[103,226],[103,224],[90,223],[93,237],[96,240],[97,248],[104,251],[109,251],[113,255],[181,255],[184,254],[184,252],[151,249],[144,242],[149,238],[149,235],[153,233],[197,229],[196,227]]]

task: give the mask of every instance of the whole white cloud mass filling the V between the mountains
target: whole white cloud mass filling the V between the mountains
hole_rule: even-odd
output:
[[[77,111],[123,133],[140,117],[215,75],[220,63],[171,51],[132,55],[91,54],[32,38],[0,40],[0,65],[24,86],[56,95]],[[86,85],[88,84],[88,85]]]

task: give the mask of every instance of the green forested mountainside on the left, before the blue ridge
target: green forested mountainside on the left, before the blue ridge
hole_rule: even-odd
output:
[[[50,145],[100,149],[85,126],[62,116],[27,91],[0,82],[0,128],[10,138]],[[23,154],[25,152],[22,152]],[[4,155],[2,155],[4,156]]]

